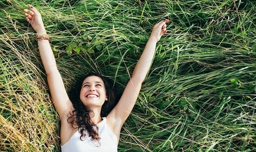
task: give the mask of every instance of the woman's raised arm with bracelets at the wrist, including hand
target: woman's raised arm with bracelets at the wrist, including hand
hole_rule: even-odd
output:
[[[34,28],[38,35],[46,35],[46,30],[40,13],[35,7],[32,7],[32,5],[28,5],[28,7],[30,10],[23,10],[26,16],[26,21],[32,25],[32,28]],[[47,39],[41,39],[38,41],[38,48],[47,74],[48,85],[54,106],[60,115],[60,119],[66,119],[66,113],[69,112],[72,104],[71,101],[69,101],[68,94],[66,93],[62,77],[57,70],[51,45]]]

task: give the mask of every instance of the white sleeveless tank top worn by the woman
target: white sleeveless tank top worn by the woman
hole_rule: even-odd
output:
[[[97,152],[117,152],[118,138],[107,125],[106,117],[102,117],[103,121],[99,122],[99,137],[101,140],[91,140],[86,131],[85,140],[80,140],[81,134],[77,130],[76,133],[66,142],[61,145],[62,152],[85,152],[85,151],[97,151]]]

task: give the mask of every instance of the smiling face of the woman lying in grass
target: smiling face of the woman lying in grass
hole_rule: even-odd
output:
[[[80,100],[85,107],[102,107],[107,101],[104,82],[98,76],[88,76],[85,78],[80,91]]]

